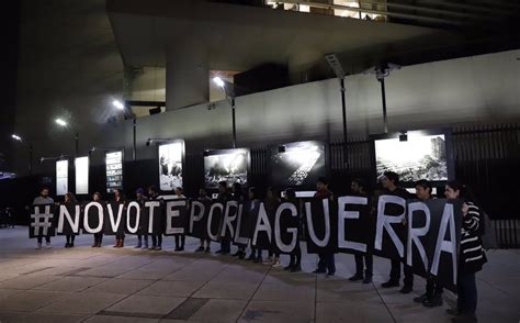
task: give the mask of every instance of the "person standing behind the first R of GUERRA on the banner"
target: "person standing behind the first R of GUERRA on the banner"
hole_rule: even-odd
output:
[[[400,188],[399,185],[399,176],[394,171],[385,171],[382,177],[383,183],[383,194],[386,196],[396,196],[403,199],[409,198],[409,193],[404,189]],[[392,205],[391,205],[392,207]],[[389,208],[388,208],[389,209]],[[394,209],[394,208],[392,208]],[[391,210],[391,213],[399,213],[398,210]],[[406,225],[406,221],[403,222],[403,225]],[[403,263],[402,259],[392,259],[392,269],[389,274],[389,279],[386,282],[383,282],[381,287],[383,288],[391,288],[391,287],[399,287],[399,279],[400,279],[400,264]],[[414,271],[410,266],[403,264],[404,268],[403,271],[405,274],[404,279],[404,287],[400,289],[402,293],[410,293],[414,288]]]

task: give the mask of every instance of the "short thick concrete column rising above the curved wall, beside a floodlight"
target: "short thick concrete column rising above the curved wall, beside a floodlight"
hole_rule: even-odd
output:
[[[207,55],[202,48],[190,43],[167,49],[167,110],[210,101],[210,69]]]

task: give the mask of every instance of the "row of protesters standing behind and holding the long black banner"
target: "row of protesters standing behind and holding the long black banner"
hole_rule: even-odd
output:
[[[432,186],[428,180],[421,179],[415,183],[415,194],[411,196],[406,189],[399,186],[399,177],[394,171],[385,171],[380,177],[378,186],[374,190],[370,190],[366,181],[362,178],[355,178],[351,181],[351,194],[361,196],[369,198],[369,204],[371,207],[371,216],[376,214],[376,200],[378,196],[391,194],[397,196],[404,199],[418,199],[421,201],[434,199],[432,194]],[[185,199],[183,189],[181,187],[176,188],[176,198]],[[114,202],[125,202],[126,199],[123,192],[118,189],[113,191]],[[334,193],[329,190],[328,181],[325,177],[320,177],[316,182],[315,198],[319,199],[334,199]],[[457,266],[457,305],[454,309],[449,309],[448,313],[455,315],[467,321],[476,320],[475,311],[477,304],[477,289],[475,282],[475,274],[479,271],[483,265],[486,263],[486,256],[482,246],[481,240],[481,226],[482,215],[481,210],[477,207],[475,198],[471,193],[470,189],[461,185],[459,181],[449,181],[444,188],[444,197],[446,199],[461,199],[464,201],[462,213],[462,229],[461,229],[461,247]],[[92,194],[93,201],[101,201],[101,193],[94,192]],[[147,192],[139,188],[135,192],[135,200],[144,203],[148,200],[161,200],[157,189],[151,186],[148,187]],[[199,190],[199,194],[195,200],[200,202],[211,202],[213,199],[207,194],[204,188]],[[230,188],[226,181],[218,183],[218,194],[216,201],[226,203],[228,201],[255,201],[263,202],[264,208],[268,212],[275,211],[278,205],[283,201],[293,202],[302,208],[302,200],[296,198],[296,192],[293,189],[286,189],[283,194],[276,191],[274,188],[268,188],[265,192],[259,192],[255,187],[242,188],[240,183],[233,183]],[[65,204],[76,203],[76,198],[72,193],[68,192],[65,194]],[[34,204],[49,204],[54,203],[54,200],[49,197],[48,189],[44,188],[41,191],[41,196],[34,199]],[[392,205],[389,207],[392,208]],[[392,213],[392,210],[388,210]],[[397,211],[398,212],[398,211]],[[406,218],[405,218],[406,219]],[[302,235],[304,230],[304,221],[299,221],[298,234]],[[406,225],[406,220],[403,221],[403,225]],[[174,236],[174,250],[183,252],[185,234],[178,234]],[[302,237],[302,236],[299,236]],[[299,238],[298,237],[298,238]],[[150,243],[148,241],[150,238]],[[46,236],[47,248],[52,247],[50,237]],[[94,234],[94,242],[92,247],[101,247],[103,240],[103,233]],[[124,233],[116,234],[115,236],[115,248],[124,247]],[[43,237],[37,237],[37,247],[42,248]],[[211,240],[200,238],[200,246],[194,250],[195,253],[211,253]],[[75,246],[75,235],[66,235],[66,248]],[[149,250],[161,250],[162,249],[162,234],[138,234],[137,245],[135,248],[144,248]],[[247,253],[249,252],[249,255]],[[264,252],[267,257],[263,258]],[[290,254],[290,263],[286,266],[282,266],[280,261],[280,252],[274,247],[262,250],[255,246],[249,246],[249,250],[245,246],[238,246],[238,249],[231,254],[231,240],[222,237],[219,240],[219,249],[216,250],[219,255],[231,255],[244,260],[251,260],[253,263],[262,263],[264,265],[272,266],[273,268],[282,268],[284,270],[296,272],[302,270],[302,248],[299,243],[296,244],[294,250]],[[365,253],[355,253],[355,272],[349,278],[350,281],[362,281],[363,283],[372,283],[373,276],[373,255],[371,248]],[[403,270],[402,270],[403,267]],[[414,288],[414,271],[412,268],[403,259],[391,259],[391,271],[389,279],[381,285],[382,288],[397,288],[400,286],[402,271],[404,275],[403,287],[400,288],[402,293],[410,293]],[[325,274],[327,277],[336,274],[336,263],[334,252],[320,252],[318,253],[317,268],[313,271],[314,274]],[[443,303],[442,300],[443,287],[438,283],[436,277],[430,275],[427,277],[426,290],[420,297],[414,299],[415,302],[421,303],[427,308],[440,307]]]

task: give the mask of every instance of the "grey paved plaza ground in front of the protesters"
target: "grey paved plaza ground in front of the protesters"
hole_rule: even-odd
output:
[[[374,282],[347,278],[351,255],[337,255],[337,276],[310,274],[317,257],[305,254],[303,271],[290,274],[231,256],[173,252],[166,237],[162,252],[126,247],[91,248],[92,236],[64,248],[35,250],[26,227],[0,230],[0,322],[450,322],[445,309],[455,296],[444,293],[442,308],[414,303],[425,281],[416,277],[414,293],[382,289],[389,261],[374,258]],[[302,244],[304,247],[304,244]],[[213,250],[217,244],[213,243]],[[477,274],[479,322],[520,322],[520,250],[494,250]],[[282,256],[286,265],[287,256]]]

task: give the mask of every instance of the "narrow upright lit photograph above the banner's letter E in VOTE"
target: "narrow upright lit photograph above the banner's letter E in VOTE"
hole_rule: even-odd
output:
[[[182,187],[182,157],[184,144],[176,142],[159,145],[159,188],[172,191]]]

